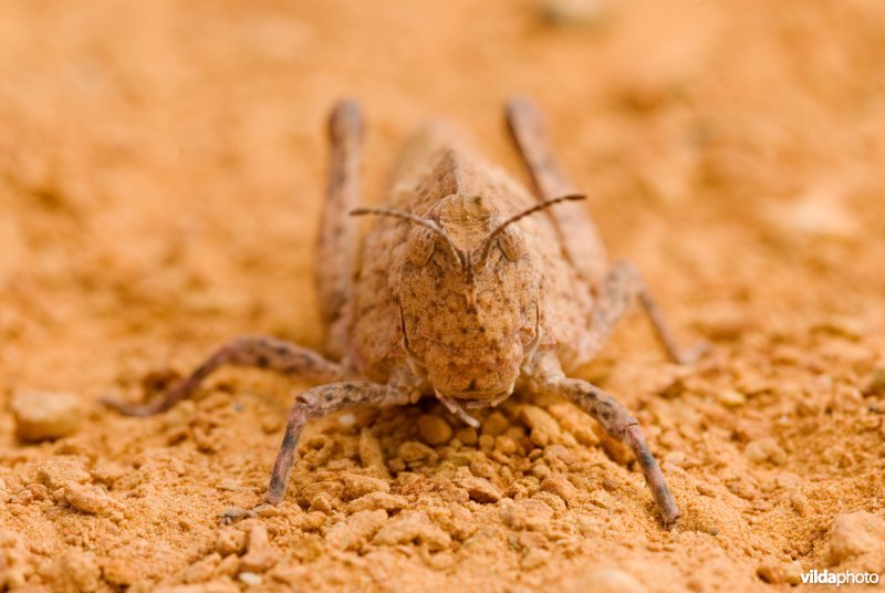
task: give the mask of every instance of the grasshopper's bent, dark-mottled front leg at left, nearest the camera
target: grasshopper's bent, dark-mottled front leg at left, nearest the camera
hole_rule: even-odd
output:
[[[275,506],[285,497],[289,474],[295,462],[301,433],[308,420],[322,418],[334,412],[355,406],[399,406],[410,402],[410,394],[398,387],[381,385],[367,381],[347,381],[314,387],[295,398],[289,422],[285,425],[283,441],[277,454],[277,461],[271,471],[268,492],[264,500],[254,509],[230,509],[221,517],[226,521],[243,517],[252,517],[268,506]]]

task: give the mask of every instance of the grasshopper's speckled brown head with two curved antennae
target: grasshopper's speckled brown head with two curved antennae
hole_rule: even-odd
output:
[[[531,241],[513,225],[564,199],[506,218],[492,200],[454,194],[424,217],[357,210],[414,222],[402,269],[404,341],[437,396],[467,407],[497,404],[513,391],[522,361],[540,340],[542,271]]]

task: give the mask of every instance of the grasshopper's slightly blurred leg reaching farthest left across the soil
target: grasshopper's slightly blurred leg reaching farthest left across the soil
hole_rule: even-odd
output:
[[[340,365],[312,350],[273,337],[243,336],[220,347],[190,375],[153,402],[147,404],[128,404],[116,399],[102,402],[127,416],[153,416],[190,397],[206,377],[225,365],[266,368],[311,381],[335,381],[343,375]]]

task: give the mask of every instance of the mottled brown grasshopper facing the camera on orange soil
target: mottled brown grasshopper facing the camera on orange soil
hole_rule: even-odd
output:
[[[222,365],[320,383],[295,397],[263,502],[279,503],[308,422],[353,406],[413,404],[435,396],[460,420],[514,391],[556,394],[585,410],[636,456],[669,528],[679,517],[637,420],[603,389],[569,373],[591,361],[634,300],[669,357],[683,353],[636,268],[608,266],[596,230],[553,157],[540,112],[508,103],[507,121],[533,194],[481,158],[448,124],[405,147],[389,206],[358,207],[363,121],[339,103],[330,117],[331,171],[319,237],[316,288],[326,357],[267,336],[243,336],[146,403],[106,403],[126,415],[169,409]],[[538,214],[539,216],[532,216]],[[357,251],[357,216],[376,218]]]

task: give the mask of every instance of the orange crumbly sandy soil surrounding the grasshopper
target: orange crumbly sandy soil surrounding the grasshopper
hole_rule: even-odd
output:
[[[0,2],[0,589],[756,591],[882,572],[885,3],[381,4]],[[321,346],[335,98],[364,105],[381,201],[434,115],[524,178],[513,93],[546,111],[613,254],[683,340],[714,344],[676,367],[634,315],[583,372],[644,424],[679,526],[592,420],[518,396],[479,431],[433,402],[331,418],[284,503],[219,526],[259,500],[306,384],[226,371],[149,419],[98,397],[154,393],[237,334]],[[82,424],[23,443],[13,399],[41,391],[61,409],[73,394]]]

